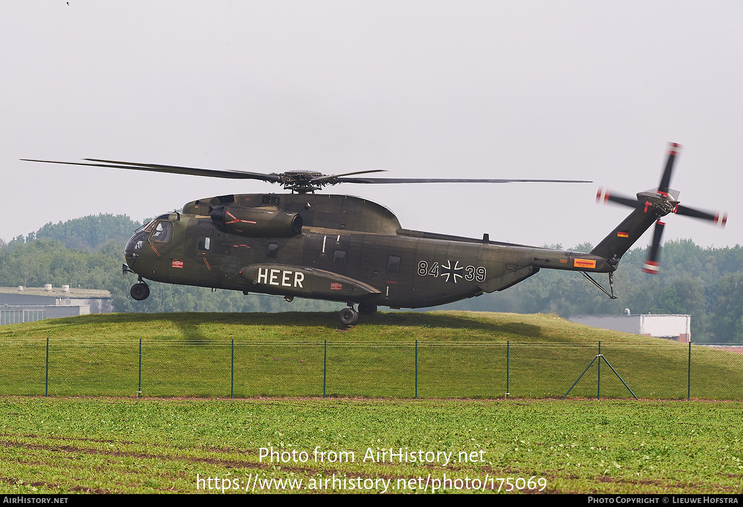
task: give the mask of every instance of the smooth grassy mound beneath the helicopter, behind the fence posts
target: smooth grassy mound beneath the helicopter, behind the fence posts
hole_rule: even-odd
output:
[[[324,388],[328,396],[412,398],[418,341],[420,397],[561,397],[600,341],[638,397],[687,397],[685,344],[556,315],[362,317],[348,330],[334,313],[98,314],[2,326],[0,394],[45,393],[48,339],[51,396],[137,396],[141,339],[143,396],[322,396]],[[598,374],[594,364],[570,396],[597,396]],[[606,363],[600,389],[631,397]],[[691,397],[743,399],[743,355],[693,346]]]

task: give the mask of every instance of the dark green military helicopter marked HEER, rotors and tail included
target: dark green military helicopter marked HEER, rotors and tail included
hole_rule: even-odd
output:
[[[637,197],[599,189],[597,201],[630,206],[632,213],[590,253],[539,248],[480,238],[403,229],[386,207],[361,197],[315,194],[338,183],[590,183],[579,180],[461,178],[369,178],[380,171],[321,174],[288,171],[262,174],[198,169],[115,160],[85,159],[64,163],[278,183],[287,194],[228,194],[193,200],[181,212],[155,217],[126,243],[124,274],[139,276],[131,295],[149,296],[146,280],[295,297],[347,304],[338,317],[346,326],[377,306],[434,307],[484,292],[505,290],[539,269],[581,272],[610,298],[620,258],[653,223],[655,236],[643,270],[658,272],[658,248],[669,213],[712,220],[724,226],[727,215],[681,206],[669,189],[681,146],[669,145],[658,189]],[[28,159],[23,159],[28,160]],[[608,273],[611,292],[589,273]],[[358,308],[358,312],[356,310]]]

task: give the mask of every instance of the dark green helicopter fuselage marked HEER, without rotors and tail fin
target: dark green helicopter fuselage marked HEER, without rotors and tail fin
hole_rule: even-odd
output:
[[[292,222],[300,224],[299,232],[250,232],[259,224],[239,220],[240,212],[299,215]],[[384,206],[324,194],[195,200],[136,232],[125,256],[129,269],[152,281],[393,308],[432,307],[504,290],[542,268],[616,269],[616,263],[583,252],[402,229]]]

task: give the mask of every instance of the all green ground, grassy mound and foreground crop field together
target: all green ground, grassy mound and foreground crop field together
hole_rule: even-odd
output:
[[[642,401],[606,364],[600,401],[595,364],[559,399],[598,341]],[[88,315],[0,343],[7,494],[742,491],[743,356],[692,347],[687,402],[687,345],[554,315]]]

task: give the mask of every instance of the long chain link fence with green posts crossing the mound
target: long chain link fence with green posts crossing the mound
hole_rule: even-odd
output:
[[[2,347],[0,391],[27,396],[743,399],[743,347],[726,348],[670,341],[19,340]]]

